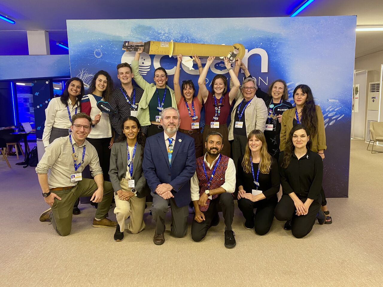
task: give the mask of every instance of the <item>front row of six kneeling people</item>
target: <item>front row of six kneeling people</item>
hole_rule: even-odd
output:
[[[68,235],[74,203],[79,197],[91,196],[91,201],[98,203],[93,227],[116,228],[114,240],[121,241],[125,229],[135,234],[145,228],[146,196],[151,194],[156,245],[165,241],[169,205],[172,235],[181,238],[186,234],[192,201],[192,239],[202,240],[218,225],[218,212],[222,211],[224,245],[232,248],[236,245],[232,230],[236,187],[244,227],[255,229],[259,235],[268,233],[274,216],[289,222],[287,228],[297,238],[306,236],[316,219],[320,224],[326,221],[321,210],[323,163],[321,156],[311,151],[308,128],[302,124],[291,128],[279,163],[268,153],[264,133],[250,131],[236,168],[233,159],[221,153],[224,135],[209,131],[203,139],[206,153],[196,158],[195,141],[178,131],[180,122],[177,109],[165,108],[159,122],[163,131],[145,139],[137,118],[125,117],[119,140],[111,148],[108,182],[103,180],[96,149],[86,140],[92,119],[84,113],[72,116],[72,134],[48,145],[36,167],[44,199],[51,206],[40,221],[50,221],[57,233]],[[82,178],[87,165],[94,179]],[[280,184],[283,195],[278,202]],[[113,197],[117,222],[106,218]]]

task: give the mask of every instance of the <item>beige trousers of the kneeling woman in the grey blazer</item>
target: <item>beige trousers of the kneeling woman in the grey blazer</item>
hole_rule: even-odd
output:
[[[123,178],[120,181],[121,189],[123,191],[131,190],[128,188],[128,180]],[[144,211],[145,211],[145,200],[146,197],[138,198],[137,196],[132,196],[129,201],[120,200],[118,195],[115,195],[116,207],[114,213],[116,214],[116,219],[120,227],[120,231],[124,232],[125,230],[125,220],[130,216],[130,221],[126,225],[131,233],[137,234],[140,231],[144,230]]]

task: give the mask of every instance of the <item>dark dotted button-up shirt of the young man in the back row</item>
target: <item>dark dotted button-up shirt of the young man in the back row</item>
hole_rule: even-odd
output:
[[[142,90],[139,86],[133,86],[136,90],[135,94],[135,105],[138,107],[139,101],[141,101],[142,94],[144,93],[144,90]],[[133,91],[132,95],[128,95],[126,93],[125,89],[120,85],[118,88],[116,88],[109,100],[109,103],[111,107],[117,111],[116,114],[109,114],[109,120],[113,127],[113,129],[116,131],[117,134],[121,135],[121,125],[122,120],[130,116],[130,111],[137,111],[137,109],[134,109],[125,99],[125,96],[121,92],[120,88],[124,91],[125,95],[128,97],[129,102],[133,104]]]

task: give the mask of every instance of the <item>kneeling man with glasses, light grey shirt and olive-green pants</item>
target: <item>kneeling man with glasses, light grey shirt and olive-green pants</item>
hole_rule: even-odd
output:
[[[112,184],[104,181],[97,151],[86,140],[91,122],[87,114],[75,114],[72,134],[48,145],[36,167],[44,200],[51,207],[40,215],[40,221],[52,222],[61,236],[70,233],[73,204],[80,196],[92,196],[90,200],[99,203],[93,227],[117,226],[117,222],[106,218],[113,197]],[[81,172],[87,165],[94,179],[82,178]]]

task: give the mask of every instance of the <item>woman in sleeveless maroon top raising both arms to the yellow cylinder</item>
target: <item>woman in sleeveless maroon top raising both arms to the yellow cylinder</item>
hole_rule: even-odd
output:
[[[200,78],[198,78],[199,92],[201,93],[205,106],[205,127],[202,137],[206,138],[210,132],[219,132],[223,135],[223,147],[221,153],[230,157],[229,130],[227,126],[228,117],[230,114],[231,104],[237,95],[240,83],[238,77],[234,74],[231,63],[227,57],[224,58],[224,64],[229,72],[233,86],[228,91],[228,81],[224,75],[216,75],[211,80],[211,92],[206,88],[206,75],[210,65],[215,57],[209,57],[206,65],[203,68]],[[203,147],[203,154],[206,153],[206,148]]]

